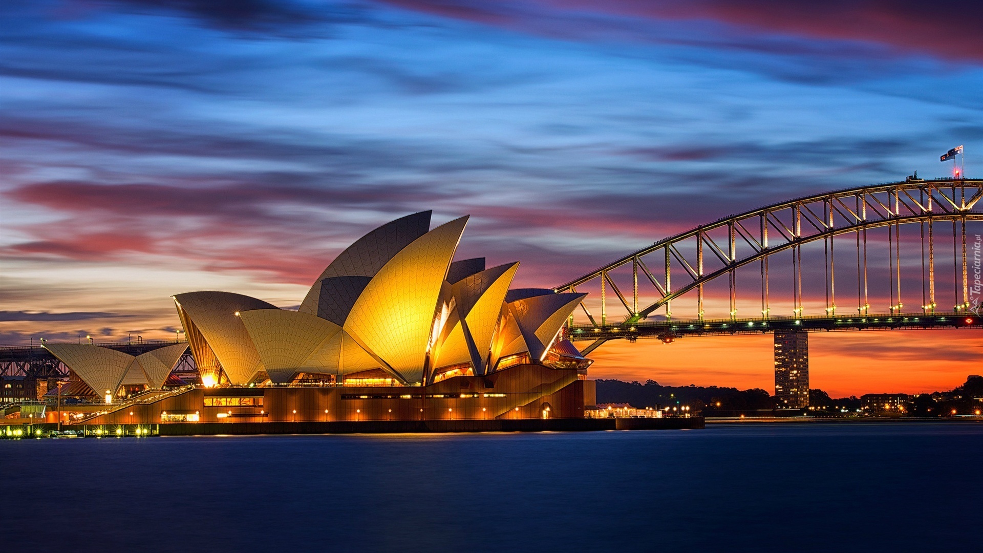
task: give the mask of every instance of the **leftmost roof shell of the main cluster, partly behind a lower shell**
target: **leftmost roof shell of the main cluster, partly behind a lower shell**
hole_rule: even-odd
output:
[[[217,291],[178,294],[174,300],[201,332],[229,382],[248,384],[264,370],[260,353],[236,313],[277,309],[275,305],[242,294]]]

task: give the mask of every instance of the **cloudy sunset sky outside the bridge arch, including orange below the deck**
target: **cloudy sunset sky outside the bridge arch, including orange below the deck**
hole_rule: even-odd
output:
[[[983,8],[777,0],[0,3],[0,343],[281,307],[377,225],[550,287],[674,232],[947,176],[983,147]],[[919,298],[920,299],[920,298]],[[912,301],[911,303],[916,303]],[[948,390],[977,332],[811,335],[834,396]],[[597,378],[773,390],[770,336],[605,344]]]

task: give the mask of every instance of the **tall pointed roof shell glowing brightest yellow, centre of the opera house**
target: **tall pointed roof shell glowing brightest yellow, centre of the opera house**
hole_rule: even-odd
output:
[[[345,332],[405,382],[423,381],[440,289],[467,221],[442,224],[400,250],[345,321]]]

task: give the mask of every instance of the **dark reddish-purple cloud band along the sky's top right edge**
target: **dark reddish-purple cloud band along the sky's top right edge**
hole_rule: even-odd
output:
[[[383,0],[386,1],[386,0]],[[970,30],[983,23],[983,8],[950,8],[929,2],[859,0],[526,0],[495,5],[473,0],[388,0],[403,8],[552,34],[557,18],[619,16],[631,24],[710,21],[744,30],[817,39],[873,42],[900,52],[979,61],[983,37]],[[957,14],[957,15],[956,15]],[[530,21],[530,18],[537,21]],[[576,25],[567,22],[567,25]],[[581,22],[581,26],[591,24]],[[961,30],[961,31],[960,31]]]

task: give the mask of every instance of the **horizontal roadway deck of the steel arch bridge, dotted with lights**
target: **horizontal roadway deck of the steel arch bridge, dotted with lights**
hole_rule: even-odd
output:
[[[983,317],[975,314],[922,313],[868,315],[866,317],[773,317],[770,319],[669,320],[639,323],[608,323],[604,326],[574,325],[567,337],[575,341],[598,339],[661,338],[688,336],[768,334],[775,331],[914,331],[936,329],[983,329]]]

